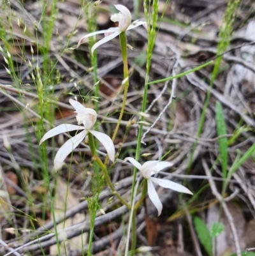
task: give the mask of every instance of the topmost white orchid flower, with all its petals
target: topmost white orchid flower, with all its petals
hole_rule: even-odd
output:
[[[116,36],[119,36],[120,33],[146,24],[146,22],[142,21],[142,20],[136,20],[135,22],[133,22],[133,24],[131,24],[132,17],[131,17],[131,13],[128,10],[128,8],[126,8],[122,4],[115,4],[114,6],[120,12],[113,14],[110,19],[113,22],[119,22],[119,27],[110,27],[109,29],[100,30],[100,31],[92,32],[90,34],[86,34],[80,41],[78,41],[77,47],[79,47],[80,44],[84,41],[84,38],[88,38],[88,37],[94,36],[96,34],[105,34],[105,38],[103,38],[102,40],[95,43],[93,45],[93,47],[91,48],[91,52],[93,55],[94,50],[96,50],[100,45],[103,45],[103,43],[106,43],[107,41],[112,40]]]

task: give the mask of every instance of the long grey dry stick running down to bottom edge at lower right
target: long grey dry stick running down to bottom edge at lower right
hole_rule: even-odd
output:
[[[234,244],[235,244],[235,249],[237,251],[237,256],[242,256],[240,243],[239,243],[239,239],[238,239],[238,235],[237,235],[237,229],[236,229],[234,221],[233,221],[233,216],[231,215],[230,210],[228,209],[228,206],[226,205],[224,198],[217,191],[214,180],[212,179],[212,174],[208,168],[207,162],[205,162],[204,159],[202,159],[202,165],[203,165],[203,168],[205,169],[205,174],[207,174],[207,176],[209,177],[208,181],[210,183],[210,188],[212,190],[212,193],[214,194],[216,199],[219,200],[219,202],[222,202],[222,207],[223,207],[224,213],[225,213],[226,218],[228,219],[228,222],[230,224],[230,229],[231,229],[231,232],[233,235],[233,240],[234,240]]]

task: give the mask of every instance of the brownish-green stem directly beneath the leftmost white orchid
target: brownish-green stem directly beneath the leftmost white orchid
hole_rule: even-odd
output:
[[[128,209],[131,209],[128,202],[126,202],[126,200],[122,199],[122,197],[119,195],[119,193],[115,190],[115,188],[112,184],[112,181],[110,180],[110,177],[108,176],[106,166],[103,164],[101,159],[96,155],[96,147],[95,147],[94,138],[91,133],[88,133],[88,135],[89,135],[89,147],[91,148],[91,153],[93,155],[92,160],[94,162],[98,163],[99,167],[103,170],[103,175],[105,176],[106,183],[108,184],[108,186],[110,186],[110,189],[112,190],[113,195],[115,195],[120,200],[120,202],[122,202],[122,204],[124,204],[126,207],[128,207]]]

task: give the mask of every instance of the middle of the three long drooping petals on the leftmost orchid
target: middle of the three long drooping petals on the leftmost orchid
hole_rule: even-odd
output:
[[[67,142],[65,142],[62,145],[62,147],[59,149],[59,151],[57,151],[57,154],[55,155],[55,159],[54,159],[55,171],[61,169],[64,163],[64,160],[66,159],[66,156],[68,156],[68,154],[71,153],[71,151],[73,151],[73,149],[75,149],[75,147],[77,147],[78,144],[80,144],[80,142],[82,142],[86,134],[87,134],[87,130],[84,130],[78,133],[77,135],[75,135],[75,137],[69,139]]]

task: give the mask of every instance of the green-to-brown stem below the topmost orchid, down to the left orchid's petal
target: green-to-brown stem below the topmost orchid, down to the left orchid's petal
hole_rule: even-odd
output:
[[[123,73],[124,73],[124,94],[123,94],[123,102],[122,102],[122,107],[120,109],[120,115],[119,115],[119,120],[116,124],[115,131],[112,136],[112,140],[115,139],[117,132],[119,130],[120,126],[120,121],[122,120],[122,116],[124,114],[124,109],[126,105],[126,100],[128,96],[128,86],[129,86],[129,79],[128,79],[128,50],[127,50],[127,38],[125,32],[120,33],[119,35],[120,38],[120,49],[121,49],[121,54],[122,54],[122,61],[123,61]]]

